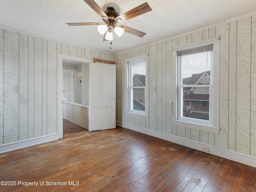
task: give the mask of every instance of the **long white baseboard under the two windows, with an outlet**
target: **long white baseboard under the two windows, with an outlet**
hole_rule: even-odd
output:
[[[202,148],[207,147],[209,148],[209,154],[213,154],[219,157],[223,157],[229,160],[233,160],[242,164],[246,164],[249,166],[253,166],[256,167],[256,157],[255,156],[251,156],[248,154],[243,154],[240,152],[236,152],[236,151],[232,151],[232,150],[228,150],[228,149],[224,149],[224,148],[220,148],[217,146],[212,146],[209,144],[205,144],[205,143],[201,143],[198,141],[193,141],[193,140],[189,140],[187,138],[182,138],[182,137],[178,137],[178,136],[174,136],[174,135],[170,135],[170,134],[166,134],[166,133],[161,133],[158,131],[154,131],[154,130],[150,130],[147,128],[142,128],[139,126],[134,126],[134,125],[130,125],[130,124],[126,124],[124,122],[116,122],[116,125],[120,126],[120,127],[124,127],[130,130],[134,130],[136,132],[140,132],[143,134],[147,134],[150,136],[154,136],[156,138],[160,138],[163,140],[167,140],[176,144],[180,144],[186,147],[190,147],[196,150],[200,150],[203,151]],[[205,151],[203,151],[205,152]]]

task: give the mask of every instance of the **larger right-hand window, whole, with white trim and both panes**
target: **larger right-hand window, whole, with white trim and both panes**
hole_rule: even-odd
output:
[[[172,122],[217,133],[219,41],[174,50],[174,59]]]

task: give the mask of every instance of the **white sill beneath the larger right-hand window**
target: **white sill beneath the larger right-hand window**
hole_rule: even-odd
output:
[[[192,122],[184,122],[180,120],[172,120],[172,124],[182,126],[182,127],[192,128],[200,131],[216,133],[216,134],[219,134],[219,130],[220,130],[220,128],[216,128],[214,126],[207,126],[207,125],[196,124]]]

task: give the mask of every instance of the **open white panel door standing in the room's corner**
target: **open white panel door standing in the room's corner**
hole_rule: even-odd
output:
[[[89,64],[89,131],[116,128],[116,65]]]

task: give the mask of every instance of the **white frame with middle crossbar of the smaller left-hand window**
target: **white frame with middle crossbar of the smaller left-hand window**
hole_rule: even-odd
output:
[[[132,75],[130,74],[131,66],[134,64],[140,63],[142,60],[144,60],[145,64],[146,64],[145,86],[140,86],[140,87],[130,86],[130,84],[132,83]],[[148,118],[149,118],[148,117],[148,104],[149,104],[148,103],[148,55],[127,58],[127,59],[125,59],[124,62],[125,62],[124,80],[125,80],[125,84],[126,84],[126,88],[124,91],[124,93],[125,93],[124,114],[127,116],[132,116],[132,117],[148,120]],[[145,89],[145,112],[131,109],[130,106],[133,103],[131,94],[132,94],[133,88],[144,88]]]

